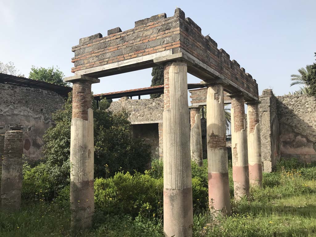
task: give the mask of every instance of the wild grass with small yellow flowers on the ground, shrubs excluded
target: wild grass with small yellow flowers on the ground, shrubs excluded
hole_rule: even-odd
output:
[[[316,166],[282,162],[276,172],[264,173],[262,189],[251,188],[238,202],[231,199],[231,216],[213,219],[208,210],[196,212],[193,236],[316,236]],[[18,213],[0,213],[0,236],[71,236],[70,211],[60,202],[24,202]],[[155,218],[109,218],[96,210],[94,227],[77,236],[156,237],[163,236],[163,226]]]

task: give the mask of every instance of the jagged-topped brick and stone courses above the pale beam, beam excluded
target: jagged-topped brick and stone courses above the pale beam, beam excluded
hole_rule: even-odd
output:
[[[223,49],[217,49],[217,43],[210,36],[203,36],[201,28],[185,18],[185,13],[177,8],[172,17],[165,13],[135,22],[135,27],[123,32],[110,30],[110,35],[102,34],[85,37],[79,45],[73,46],[72,72],[85,70],[106,64],[151,55],[170,49],[181,48],[225,76],[228,80],[244,88],[250,94],[258,96],[258,84],[252,76]]]

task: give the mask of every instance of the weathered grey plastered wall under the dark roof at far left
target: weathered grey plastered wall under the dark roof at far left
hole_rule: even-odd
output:
[[[0,84],[0,101],[0,134],[21,128],[23,153],[39,159],[52,113],[62,108],[64,98],[52,91]]]

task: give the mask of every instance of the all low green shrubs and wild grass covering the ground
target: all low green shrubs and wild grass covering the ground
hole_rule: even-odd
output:
[[[111,168],[105,167],[105,171]],[[23,186],[31,185],[28,172]],[[193,236],[314,236],[316,233],[316,165],[302,165],[295,159],[280,161],[276,171],[264,173],[263,188],[251,188],[250,197],[231,199],[232,215],[212,218],[206,208],[207,163],[192,163],[194,229]],[[233,195],[230,164],[230,193]],[[153,162],[145,173],[123,170],[113,177],[95,180],[94,227],[79,237],[88,236],[163,236],[162,163]],[[13,215],[0,214],[0,236],[70,236],[69,187],[48,201],[43,189],[24,201]],[[23,187],[23,188],[24,188]],[[45,187],[45,188],[44,188]]]

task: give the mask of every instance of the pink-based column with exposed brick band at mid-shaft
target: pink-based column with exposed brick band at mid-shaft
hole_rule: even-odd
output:
[[[209,84],[206,99],[207,163],[210,208],[230,213],[228,158],[226,148],[226,120],[223,86]],[[211,203],[213,199],[213,203]]]

